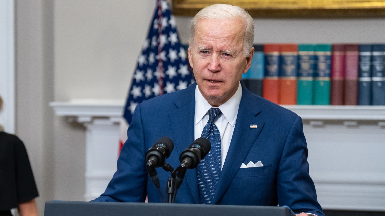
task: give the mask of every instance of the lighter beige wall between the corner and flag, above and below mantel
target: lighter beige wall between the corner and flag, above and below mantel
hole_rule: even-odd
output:
[[[125,98],[154,7],[149,0],[55,1],[54,100]],[[53,198],[84,200],[85,129],[56,117],[54,137]]]

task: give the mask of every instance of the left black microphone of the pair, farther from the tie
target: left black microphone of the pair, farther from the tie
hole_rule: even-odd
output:
[[[160,183],[155,168],[164,164],[164,160],[170,156],[173,149],[172,140],[162,137],[146,152],[146,169],[157,188],[160,188]]]

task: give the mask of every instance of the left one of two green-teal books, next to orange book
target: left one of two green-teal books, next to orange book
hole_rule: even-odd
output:
[[[315,70],[315,45],[298,44],[297,104],[312,105]]]

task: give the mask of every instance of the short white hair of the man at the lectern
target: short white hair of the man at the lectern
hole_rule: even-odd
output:
[[[245,57],[249,56],[250,49],[253,47],[254,43],[254,21],[248,12],[246,12],[241,7],[226,4],[213,4],[203,8],[191,20],[189,30],[190,46],[194,44],[196,22],[202,18],[209,20],[233,20],[236,18],[240,18],[241,20],[243,20],[245,24],[243,52]]]

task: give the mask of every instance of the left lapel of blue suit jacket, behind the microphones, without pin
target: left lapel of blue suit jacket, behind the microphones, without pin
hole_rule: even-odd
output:
[[[177,109],[169,113],[177,155],[181,155],[182,151],[194,141],[195,86],[196,84],[192,84],[185,93],[175,98],[174,104]],[[188,169],[185,179],[195,202],[200,203],[196,169]]]

